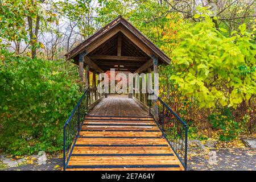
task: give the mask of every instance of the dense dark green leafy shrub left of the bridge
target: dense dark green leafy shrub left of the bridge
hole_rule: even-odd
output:
[[[63,124],[81,96],[77,68],[0,54],[0,148],[14,155],[63,145]]]

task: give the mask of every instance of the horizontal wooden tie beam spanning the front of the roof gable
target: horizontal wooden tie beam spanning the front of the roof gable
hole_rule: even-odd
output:
[[[90,59],[104,59],[104,60],[125,60],[125,61],[145,61],[147,57],[135,57],[135,56],[108,56],[108,55],[91,55]]]

